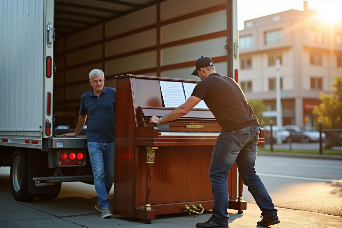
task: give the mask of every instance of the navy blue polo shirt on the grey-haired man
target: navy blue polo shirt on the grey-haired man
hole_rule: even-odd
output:
[[[114,142],[115,92],[114,88],[103,86],[100,96],[93,94],[93,88],[81,96],[81,107],[78,114],[88,114],[88,142]]]

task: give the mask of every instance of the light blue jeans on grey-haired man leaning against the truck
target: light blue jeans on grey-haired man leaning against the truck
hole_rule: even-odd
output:
[[[114,183],[114,142],[88,142],[88,151],[98,205],[101,210],[109,208],[107,197]]]

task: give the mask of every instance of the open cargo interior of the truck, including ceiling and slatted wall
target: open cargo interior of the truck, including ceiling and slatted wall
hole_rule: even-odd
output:
[[[232,76],[231,0],[55,0],[55,126],[77,125],[80,97],[91,89],[88,74],[134,74],[199,80],[200,56]],[[236,36],[237,37],[237,36]],[[159,88],[156,88],[159,89]]]

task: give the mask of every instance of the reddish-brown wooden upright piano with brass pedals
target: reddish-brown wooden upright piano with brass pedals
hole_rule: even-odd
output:
[[[162,124],[150,124],[166,108],[159,81],[197,80],[123,75],[116,79],[114,206],[117,215],[142,218],[201,213],[213,208],[208,177],[211,154],[221,127],[209,109]],[[264,144],[263,129],[259,145]],[[246,210],[236,163],[228,174],[229,208]]]

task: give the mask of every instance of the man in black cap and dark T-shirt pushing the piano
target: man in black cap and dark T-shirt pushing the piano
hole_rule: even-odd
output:
[[[192,75],[198,76],[201,81],[186,102],[166,116],[151,117],[150,123],[158,124],[178,119],[204,100],[222,127],[214,145],[209,169],[214,195],[212,216],[205,223],[197,223],[196,227],[228,227],[227,176],[235,161],[244,184],[262,211],[263,219],[257,225],[278,224],[277,210],[254,168],[259,123],[245,94],[232,78],[216,73],[213,61],[209,57],[202,56],[197,60]]]

